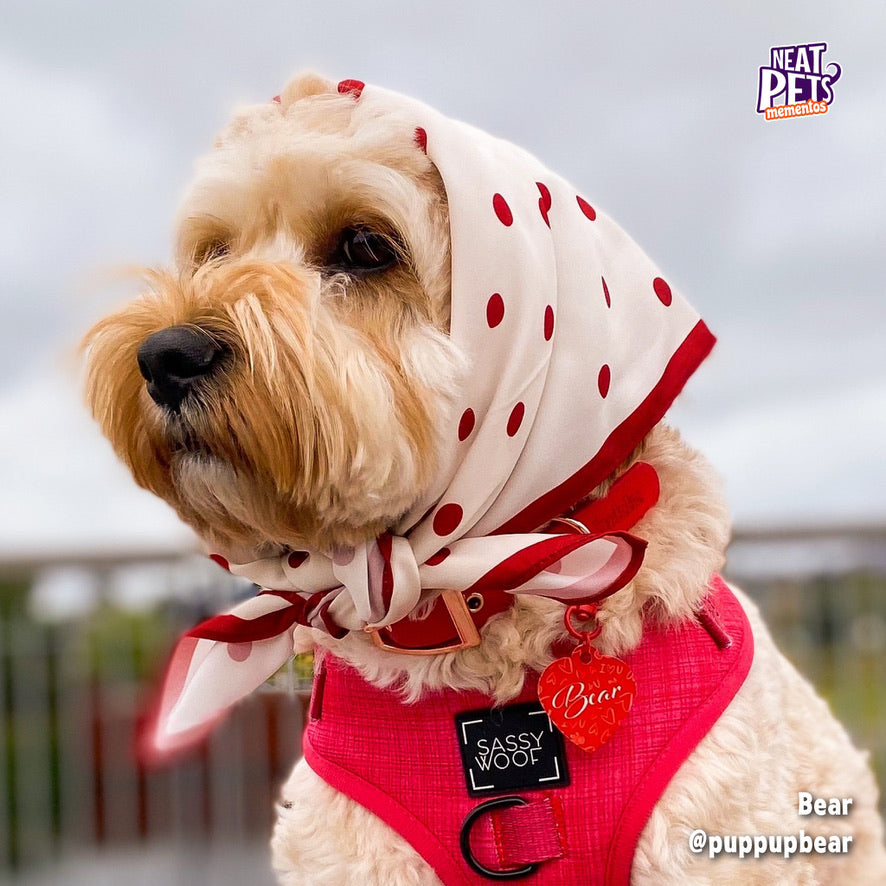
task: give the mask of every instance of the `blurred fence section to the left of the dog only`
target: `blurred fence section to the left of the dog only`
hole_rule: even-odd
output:
[[[175,568],[151,571],[168,579]],[[125,566],[106,564],[81,564],[80,581],[56,575],[55,593],[82,592],[84,569],[101,589],[88,614],[41,620],[25,605],[33,590],[27,580],[7,583],[0,595],[0,882],[68,883],[68,859],[126,850],[114,882],[132,884],[127,868],[135,862],[126,859],[137,852],[187,847],[194,856],[261,844],[266,881],[241,871],[206,882],[270,883],[263,856],[273,801],[301,749],[296,681],[290,691],[254,693],[194,756],[144,768],[135,759],[136,731],[169,647],[224,605],[223,596],[210,603],[198,586],[184,600],[132,609],[119,599],[131,572],[127,578]],[[212,581],[225,585],[216,572]],[[63,610],[70,601],[55,605]],[[87,880],[94,875],[84,873]],[[143,882],[157,880],[146,874]]]

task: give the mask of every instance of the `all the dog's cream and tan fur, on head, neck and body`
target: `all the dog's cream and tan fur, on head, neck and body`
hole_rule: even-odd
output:
[[[87,338],[89,403],[118,455],[210,547],[239,562],[305,545],[330,550],[390,528],[434,473],[467,371],[447,337],[442,183],[412,147],[408,120],[356,127],[357,113],[333,84],[303,75],[279,103],[236,116],[187,196],[177,269],[148,272],[150,293]],[[341,255],[347,228],[388,236],[398,261],[377,272],[349,270]],[[146,337],[174,325],[205,330],[226,355],[179,414],[151,400],[136,364]],[[658,471],[662,494],[635,528],[649,540],[640,572],[600,615],[598,647],[610,654],[639,643],[644,607],[662,620],[692,614],[722,566],[729,534],[712,471],[674,431],[655,428],[632,461],[640,456]],[[632,882],[886,882],[865,755],[776,651],[753,604],[740,599],[755,636],[750,674],[652,813]],[[455,654],[397,656],[363,634],[332,641],[306,629],[301,641],[334,648],[409,699],[448,686],[507,701],[524,669],[549,663],[561,632],[562,606],[533,598],[496,616],[480,647]],[[401,682],[405,689],[395,690]],[[801,819],[804,790],[852,797],[852,812]],[[854,842],[833,857],[709,861],[688,849],[694,828],[724,835],[803,828]],[[401,837],[303,762],[284,788],[273,843],[286,886],[439,883]]]

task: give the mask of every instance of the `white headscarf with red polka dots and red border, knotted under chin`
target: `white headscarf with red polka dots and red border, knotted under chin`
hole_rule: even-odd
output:
[[[564,602],[627,582],[643,542],[537,527],[630,455],[714,343],[636,244],[534,157],[395,93],[356,81],[339,90],[357,136],[388,118],[391,137],[440,172],[450,334],[471,371],[434,482],[391,533],[356,549],[226,563],[272,590],[183,641],[158,746],[282,665],[297,622],[332,634],[384,626],[426,590],[491,581]]]

